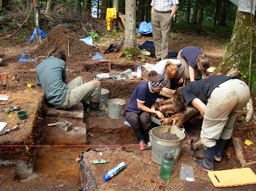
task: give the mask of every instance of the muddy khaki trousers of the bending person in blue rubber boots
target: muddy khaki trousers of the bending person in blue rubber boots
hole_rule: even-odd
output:
[[[248,103],[250,90],[246,83],[229,79],[211,93],[206,106],[201,130],[201,142],[213,147],[219,138],[231,138],[237,115]]]

